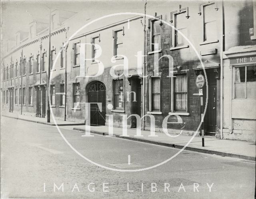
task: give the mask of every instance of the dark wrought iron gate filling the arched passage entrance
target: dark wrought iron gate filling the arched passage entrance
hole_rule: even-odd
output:
[[[106,121],[106,87],[100,81],[94,81],[88,90],[88,102],[102,103],[102,111],[97,104],[90,104],[90,125],[104,126]]]

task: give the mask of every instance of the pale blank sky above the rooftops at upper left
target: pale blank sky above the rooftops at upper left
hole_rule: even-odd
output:
[[[4,0],[1,1],[1,39],[15,40],[18,31],[28,32],[33,20],[48,22],[51,10],[86,10],[103,12],[104,10],[134,10],[144,6],[144,0]]]

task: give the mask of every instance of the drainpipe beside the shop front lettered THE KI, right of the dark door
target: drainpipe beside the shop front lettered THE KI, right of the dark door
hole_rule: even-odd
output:
[[[223,133],[223,46],[224,46],[224,26],[223,26],[223,1],[221,1],[221,37],[220,37],[220,139]]]

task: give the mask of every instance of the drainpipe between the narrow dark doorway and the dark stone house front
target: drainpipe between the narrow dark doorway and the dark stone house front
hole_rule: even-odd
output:
[[[147,5],[147,0],[145,0],[145,6],[144,6],[144,57],[143,57],[143,86],[142,86],[142,116],[145,115],[145,97],[146,97],[146,81],[145,81],[145,76],[146,76],[146,5]],[[142,130],[145,130],[145,117],[143,117],[143,122],[142,122]]]

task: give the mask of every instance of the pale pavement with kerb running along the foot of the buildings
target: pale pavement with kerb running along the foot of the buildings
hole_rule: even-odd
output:
[[[46,122],[46,118],[38,118],[25,115],[16,115],[13,113],[4,114],[6,117],[26,120],[40,124],[55,126],[54,122]],[[58,126],[70,126],[70,130],[85,132],[85,126],[82,123],[56,120]],[[91,126],[92,134],[108,135],[108,126]],[[122,136],[122,128],[113,127],[113,135],[118,138],[168,146],[172,148],[182,149],[186,146],[186,150],[215,154],[219,156],[227,156],[232,158],[240,158],[244,160],[256,160],[256,144],[255,142],[245,142],[237,140],[220,140],[213,136],[204,137],[204,147],[202,147],[202,138],[199,136],[178,135],[169,133],[167,136],[163,132],[155,132],[156,137],[150,137],[150,131],[141,130],[141,137],[136,136],[136,129],[127,129],[128,136]],[[188,143],[189,142],[189,143]]]

